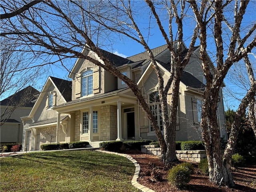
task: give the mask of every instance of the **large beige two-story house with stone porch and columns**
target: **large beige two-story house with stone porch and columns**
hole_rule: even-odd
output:
[[[148,54],[143,52],[122,58],[101,51],[120,72],[137,82],[162,130],[158,81]],[[171,58],[167,45],[155,48],[152,52],[164,79],[168,79]],[[92,51],[83,49],[82,53],[102,62]],[[196,47],[182,73],[176,140],[201,138],[200,113],[205,85],[199,55],[199,48]],[[72,79],[72,89],[68,86],[71,84],[69,81],[58,79],[65,82],[65,86],[60,86],[54,82],[54,78],[48,78],[30,115],[23,119],[24,122],[29,118],[33,120],[24,129],[24,146],[27,144],[30,150],[40,150],[41,144],[50,141],[42,129],[50,126],[55,129],[58,127],[55,142],[89,141],[91,146],[98,146],[100,142],[108,140],[157,140],[137,98],[122,80],[80,58],[74,64],[69,78]],[[171,90],[168,102],[170,94]],[[218,121],[220,136],[226,137],[222,92],[218,104]]]

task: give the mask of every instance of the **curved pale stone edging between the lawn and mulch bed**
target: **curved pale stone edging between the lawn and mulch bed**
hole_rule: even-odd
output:
[[[103,153],[109,153],[109,154],[116,154],[116,155],[119,155],[119,156],[123,156],[123,157],[126,157],[128,160],[130,160],[131,162],[133,162],[134,166],[135,166],[135,173],[134,173],[134,176],[132,178],[132,185],[136,188],[138,188],[139,190],[141,190],[142,192],[155,192],[154,190],[148,188],[148,187],[145,187],[141,184],[139,184],[137,182],[137,179],[139,177],[139,174],[140,174],[140,165],[138,164],[138,162],[132,158],[130,155],[128,154],[122,154],[122,153],[116,153],[116,152],[110,152],[110,151],[104,151],[104,150],[96,150],[98,152],[103,152]]]

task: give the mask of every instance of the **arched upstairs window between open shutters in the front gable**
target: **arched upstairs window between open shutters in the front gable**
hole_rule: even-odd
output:
[[[93,86],[93,71],[87,70],[82,74],[82,96],[87,96],[92,94],[92,86]]]

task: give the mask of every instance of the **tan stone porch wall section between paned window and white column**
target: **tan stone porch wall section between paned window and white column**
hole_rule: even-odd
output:
[[[100,107],[100,140],[116,140],[117,138],[117,106]]]

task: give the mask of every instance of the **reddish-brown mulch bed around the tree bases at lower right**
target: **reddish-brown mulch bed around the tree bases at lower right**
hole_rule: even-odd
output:
[[[236,183],[235,188],[227,188],[224,186],[218,186],[209,182],[209,177],[201,174],[198,169],[198,164],[192,162],[194,165],[194,174],[192,174],[192,180],[183,189],[177,189],[171,186],[167,181],[168,170],[164,167],[164,164],[157,156],[142,154],[140,151],[131,150],[126,151],[140,164],[140,177],[138,182],[156,192],[256,192],[256,166],[245,166],[233,170],[232,176]],[[150,180],[150,171],[152,170],[152,164],[159,168],[162,175],[161,181],[152,182]]]

